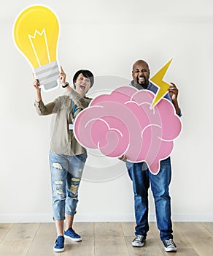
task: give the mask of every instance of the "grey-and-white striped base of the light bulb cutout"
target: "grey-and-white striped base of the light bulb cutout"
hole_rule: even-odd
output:
[[[58,86],[58,63],[57,61],[50,62],[41,67],[34,69],[36,79],[39,80],[41,86],[45,91],[53,89]]]

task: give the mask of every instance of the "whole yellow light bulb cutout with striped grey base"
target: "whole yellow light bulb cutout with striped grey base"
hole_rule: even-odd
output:
[[[59,22],[55,13],[44,6],[32,6],[18,15],[13,27],[15,44],[34,70],[44,90],[58,86]]]

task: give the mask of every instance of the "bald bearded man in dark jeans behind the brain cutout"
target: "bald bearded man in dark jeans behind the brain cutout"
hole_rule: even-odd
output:
[[[139,60],[133,64],[132,70],[133,80],[131,86],[136,89],[147,89],[155,94],[158,87],[149,81],[150,69],[146,61]],[[177,115],[181,116],[179,105],[177,102],[178,89],[171,83],[169,93],[166,98],[171,100]],[[120,157],[126,161],[126,157]],[[133,246],[144,246],[147,232],[149,230],[148,223],[148,189],[151,184],[152,194],[155,199],[155,212],[158,229],[160,230],[160,239],[163,241],[166,252],[176,252],[177,246],[174,244],[172,236],[171,224],[171,204],[169,196],[169,184],[171,181],[171,162],[170,157],[160,161],[160,172],[153,175],[145,162],[131,163],[126,162],[128,174],[133,182],[134,207],[135,207],[135,235],[132,241]]]

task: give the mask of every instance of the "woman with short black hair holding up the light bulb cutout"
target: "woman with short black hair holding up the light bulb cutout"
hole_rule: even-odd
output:
[[[76,214],[78,188],[87,153],[74,138],[73,124],[77,114],[87,108],[90,103],[91,99],[85,97],[85,94],[93,86],[94,77],[89,70],[79,70],[73,78],[74,89],[71,89],[69,83],[66,82],[66,74],[62,67],[58,78],[69,94],[44,105],[39,80],[34,80],[36,90],[34,105],[39,116],[56,114],[50,146],[53,219],[57,232],[54,251],[63,252],[64,236],[73,241],[82,240],[72,229],[72,224],[74,214]],[[63,232],[64,219],[66,219],[66,230]]]

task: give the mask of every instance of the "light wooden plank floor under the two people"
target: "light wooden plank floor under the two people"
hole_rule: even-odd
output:
[[[2,256],[136,256],[177,255],[212,256],[213,222],[174,222],[176,253],[166,253],[155,222],[144,247],[131,246],[133,222],[75,223],[82,242],[65,241],[64,252],[53,252],[54,223],[0,224],[0,255]]]

